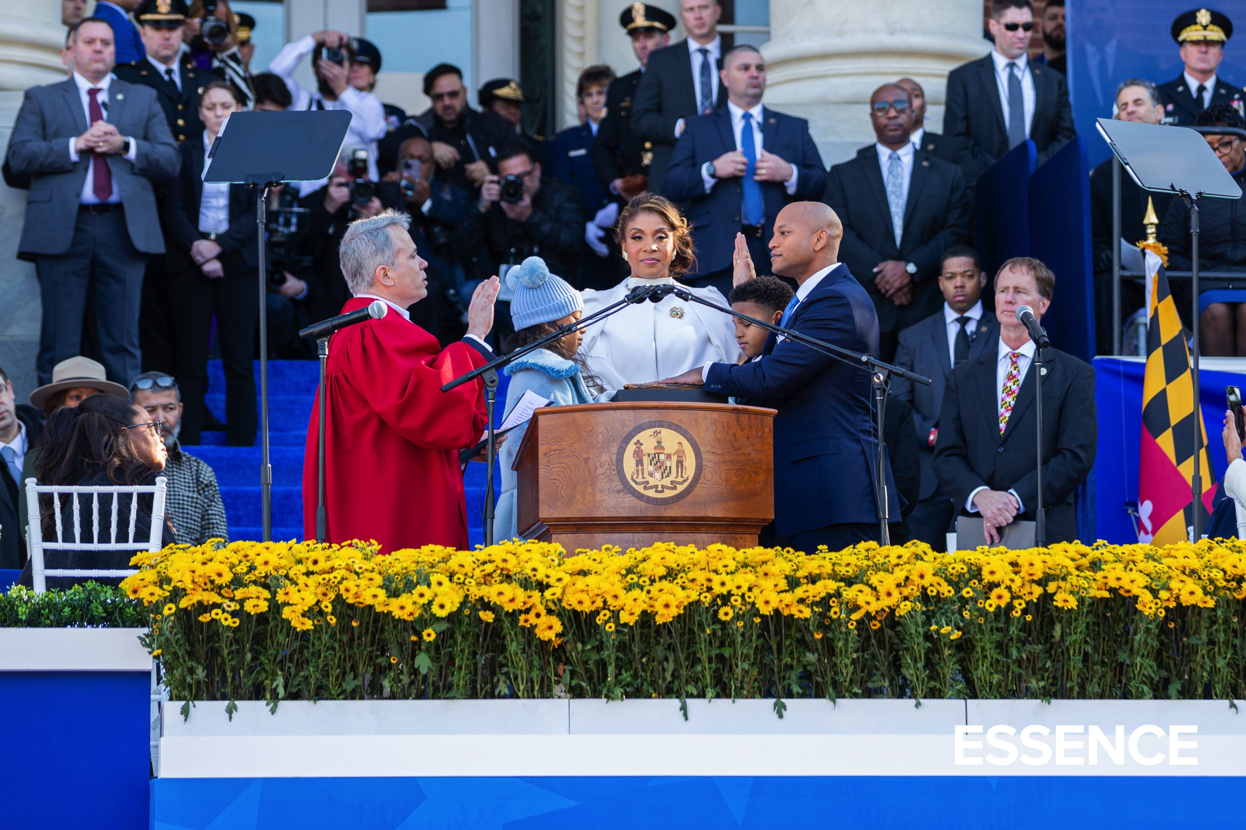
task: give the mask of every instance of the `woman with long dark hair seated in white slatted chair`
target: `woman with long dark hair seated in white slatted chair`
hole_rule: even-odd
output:
[[[115,487],[150,486],[168,460],[168,451],[159,436],[159,425],[147,411],[116,395],[92,395],[74,408],[62,406],[52,413],[39,437],[39,460],[35,475],[41,485]],[[61,502],[61,532],[66,540],[74,538],[74,498],[71,494],[57,495]],[[82,541],[95,541],[95,498],[77,496]],[[117,503],[117,538],[130,538],[130,510],[135,496],[122,495]],[[152,523],[152,497],[137,496],[135,520],[135,551],[147,546]],[[112,538],[111,494],[98,496],[98,541]],[[52,496],[40,496],[41,528],[45,540],[56,538],[56,513]],[[163,545],[173,545],[173,528],[164,522]],[[46,570],[90,568],[126,570],[131,552],[126,551],[45,551]],[[31,586],[31,563],[27,560],[17,584]],[[78,577],[49,577],[49,588],[67,588],[86,580]],[[96,582],[117,584],[120,578],[100,578]]]

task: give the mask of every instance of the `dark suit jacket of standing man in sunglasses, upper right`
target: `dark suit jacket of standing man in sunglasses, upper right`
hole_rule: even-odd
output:
[[[1029,137],[1043,163],[1077,135],[1073,107],[1064,76],[1053,69],[1029,62],[1034,77],[1034,120]],[[947,76],[943,135],[968,140],[966,152],[974,167],[986,169],[1008,152],[1008,121],[999,102],[996,65],[991,55],[957,66]],[[971,174],[971,169],[966,169]]]

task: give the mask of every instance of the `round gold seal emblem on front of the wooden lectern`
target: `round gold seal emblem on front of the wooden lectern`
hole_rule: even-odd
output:
[[[619,442],[616,471],[623,489],[650,505],[670,505],[700,481],[697,440],[670,421],[645,421]]]

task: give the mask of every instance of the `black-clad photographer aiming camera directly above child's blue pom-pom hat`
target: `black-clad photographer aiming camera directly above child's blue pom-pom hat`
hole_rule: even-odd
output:
[[[542,179],[541,163],[528,147],[506,145],[497,155],[497,174],[485,178],[475,209],[455,228],[455,252],[468,280],[497,274],[506,285],[506,269],[528,257],[545,259],[552,273],[573,274],[584,237],[583,213],[574,187]],[[498,302],[508,299],[503,289]],[[508,320],[500,314],[498,327]]]

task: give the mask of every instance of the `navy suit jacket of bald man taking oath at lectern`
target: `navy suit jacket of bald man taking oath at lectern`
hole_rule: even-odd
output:
[[[792,312],[789,328],[854,351],[878,353],[870,295],[837,264]],[[749,398],[775,416],[775,530],[779,536],[877,522],[870,373],[771,334],[759,360],[709,368],[705,391]],[[887,465],[888,511],[900,500]]]

